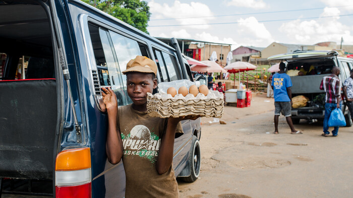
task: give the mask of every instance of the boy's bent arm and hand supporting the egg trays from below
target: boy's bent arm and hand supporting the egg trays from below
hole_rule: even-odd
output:
[[[173,162],[173,150],[174,150],[174,139],[175,139],[175,129],[177,125],[182,120],[196,120],[199,117],[179,117],[179,118],[168,118],[167,128],[165,134],[160,142],[159,153],[156,162],[156,169],[158,174],[163,174],[171,166]]]

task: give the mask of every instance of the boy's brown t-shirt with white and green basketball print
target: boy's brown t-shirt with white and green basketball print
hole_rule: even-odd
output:
[[[168,119],[150,117],[132,105],[119,107],[117,128],[120,130],[126,174],[125,197],[178,197],[174,170],[158,174],[156,161]],[[183,133],[182,125],[177,133]]]

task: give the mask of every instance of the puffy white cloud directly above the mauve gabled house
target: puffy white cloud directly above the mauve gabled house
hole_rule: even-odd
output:
[[[241,18],[238,22],[240,28],[238,30],[239,33],[246,36],[253,36],[255,37],[254,40],[265,40],[268,42],[274,40],[265,25],[259,23],[255,17],[249,17],[246,19]]]

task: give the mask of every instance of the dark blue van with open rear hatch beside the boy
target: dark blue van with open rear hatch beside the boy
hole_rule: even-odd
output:
[[[157,63],[158,82],[193,80],[171,43],[78,0],[0,1],[0,196],[124,197],[123,164],[106,158],[100,89],[130,104],[121,71],[136,55]],[[182,124],[173,168],[192,182],[200,119]]]

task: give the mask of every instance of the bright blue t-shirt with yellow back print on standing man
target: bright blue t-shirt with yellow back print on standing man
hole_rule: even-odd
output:
[[[287,87],[292,86],[290,77],[285,73],[275,73],[272,77],[273,95],[275,102],[290,102]]]

